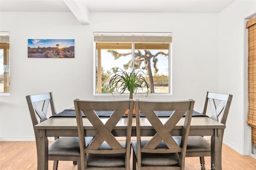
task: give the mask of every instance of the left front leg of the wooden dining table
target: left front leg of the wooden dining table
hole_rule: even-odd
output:
[[[45,130],[38,130],[37,169],[48,170],[48,138],[45,136]]]

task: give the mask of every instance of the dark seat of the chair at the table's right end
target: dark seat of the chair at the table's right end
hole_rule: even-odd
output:
[[[174,136],[174,140],[180,145],[181,136]],[[186,153],[189,152],[211,152],[211,143],[202,136],[188,136]]]

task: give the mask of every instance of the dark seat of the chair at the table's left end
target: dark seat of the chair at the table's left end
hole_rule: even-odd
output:
[[[86,145],[93,137],[86,137]],[[54,140],[49,146],[49,156],[80,156],[78,137],[61,137]]]

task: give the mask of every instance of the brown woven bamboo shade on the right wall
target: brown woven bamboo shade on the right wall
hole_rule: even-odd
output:
[[[256,146],[256,18],[246,23],[248,28],[248,98],[247,123],[252,127],[252,143]]]

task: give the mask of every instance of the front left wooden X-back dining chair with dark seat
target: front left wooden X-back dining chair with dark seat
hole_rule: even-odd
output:
[[[127,101],[83,101],[74,100],[76,122],[78,126],[78,136],[80,142],[80,154],[82,169],[104,169],[104,170],[129,170],[130,168],[130,149],[131,149],[131,132],[132,132],[132,110],[133,100]],[[129,109],[125,127],[122,128],[126,136],[125,142],[120,142],[115,135],[120,136],[121,132],[115,132],[115,127]],[[113,111],[106,123],[102,122],[96,112]],[[94,139],[87,145],[84,142],[84,125],[82,113],[93,125],[96,132]]]

